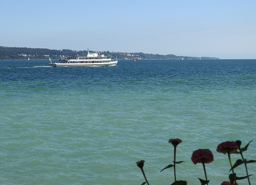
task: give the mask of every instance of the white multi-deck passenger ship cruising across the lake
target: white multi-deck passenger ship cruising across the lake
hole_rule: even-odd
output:
[[[51,59],[49,58],[51,61]],[[90,53],[88,49],[87,57],[70,57],[69,59],[60,59],[58,62],[49,63],[52,67],[85,67],[85,66],[114,66],[117,58],[111,60],[100,53]]]

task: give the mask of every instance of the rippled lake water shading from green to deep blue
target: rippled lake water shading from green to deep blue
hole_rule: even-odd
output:
[[[256,160],[256,60],[120,60],[113,67],[0,61],[0,184],[150,185],[205,179],[191,155],[209,148],[210,184],[228,181],[218,144],[242,140]],[[233,163],[239,155],[232,155]],[[251,184],[256,165],[248,164]],[[244,166],[235,169],[245,176]],[[246,180],[239,185],[248,184]]]

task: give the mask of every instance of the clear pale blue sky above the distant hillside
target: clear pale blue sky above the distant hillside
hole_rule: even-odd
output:
[[[0,46],[256,59],[255,0],[4,0]]]

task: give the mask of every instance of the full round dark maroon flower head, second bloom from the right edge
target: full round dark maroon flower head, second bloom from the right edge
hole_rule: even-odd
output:
[[[212,151],[209,149],[198,149],[192,153],[191,160],[196,163],[211,163],[213,161]]]

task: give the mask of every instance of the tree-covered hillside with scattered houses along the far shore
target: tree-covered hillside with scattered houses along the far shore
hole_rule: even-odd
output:
[[[90,51],[96,52],[96,51]],[[146,53],[121,53],[100,51],[101,54],[108,56],[109,58],[118,59],[199,59],[199,57],[186,57],[176,55],[158,55],[158,54],[146,54]],[[0,46],[0,60],[20,60],[24,59],[60,59],[61,57],[70,56],[86,56],[87,50],[73,51],[70,49],[41,49],[41,48],[28,48],[28,47],[3,47]],[[201,57],[201,59],[219,59],[215,57]]]

